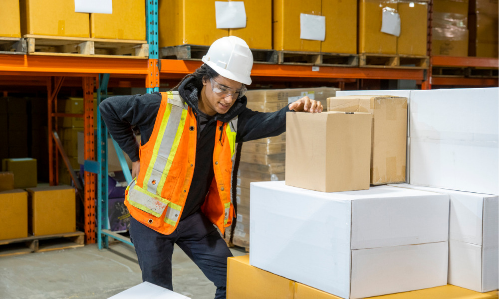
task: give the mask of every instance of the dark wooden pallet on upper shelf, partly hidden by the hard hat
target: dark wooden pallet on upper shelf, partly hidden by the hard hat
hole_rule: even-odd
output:
[[[200,45],[163,47],[160,49],[160,58],[201,60],[209,48],[210,46]],[[255,63],[277,63],[277,51],[275,50],[251,49],[251,53]]]

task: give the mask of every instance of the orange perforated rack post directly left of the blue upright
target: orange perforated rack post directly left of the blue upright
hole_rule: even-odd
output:
[[[93,128],[93,91],[94,77],[83,77],[83,143],[84,143],[84,159],[95,160],[94,148],[94,128]],[[95,243],[95,189],[96,189],[96,174],[92,172],[84,172],[85,180],[85,201],[84,201],[84,225],[86,244]]]

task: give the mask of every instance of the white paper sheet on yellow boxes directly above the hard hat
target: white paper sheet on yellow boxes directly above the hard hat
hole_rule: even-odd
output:
[[[215,20],[217,22],[218,29],[245,28],[245,2],[215,1]]]

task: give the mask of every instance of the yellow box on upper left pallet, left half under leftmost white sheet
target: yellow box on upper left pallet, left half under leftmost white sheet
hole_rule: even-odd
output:
[[[74,12],[74,1],[20,0],[19,9],[22,35],[90,37],[89,14]]]

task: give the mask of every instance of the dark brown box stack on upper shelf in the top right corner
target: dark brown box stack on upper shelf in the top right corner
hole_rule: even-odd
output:
[[[498,57],[498,1],[470,0],[468,16],[470,56]]]

